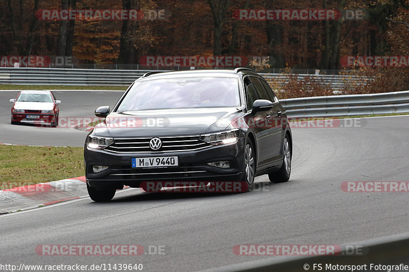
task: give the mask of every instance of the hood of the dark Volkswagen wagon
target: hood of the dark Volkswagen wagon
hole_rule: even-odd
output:
[[[94,134],[114,138],[201,134],[222,131],[242,115],[238,108],[112,112],[95,127]]]

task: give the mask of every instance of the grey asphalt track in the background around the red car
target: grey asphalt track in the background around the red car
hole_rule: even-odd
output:
[[[61,100],[60,122],[63,127],[35,127],[33,125],[11,125],[10,99],[16,98],[19,91],[0,90],[0,143],[84,146],[88,134],[67,125],[77,123],[85,117],[94,118],[94,111],[99,106],[111,108],[121,97],[122,91],[53,91]]]

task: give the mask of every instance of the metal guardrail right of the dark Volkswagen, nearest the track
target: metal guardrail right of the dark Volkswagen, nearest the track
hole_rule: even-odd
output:
[[[288,117],[331,117],[409,112],[409,91],[282,99]]]

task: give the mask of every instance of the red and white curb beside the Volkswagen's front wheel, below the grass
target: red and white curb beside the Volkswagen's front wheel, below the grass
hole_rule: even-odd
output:
[[[48,206],[87,196],[85,176],[0,191],[0,214]]]

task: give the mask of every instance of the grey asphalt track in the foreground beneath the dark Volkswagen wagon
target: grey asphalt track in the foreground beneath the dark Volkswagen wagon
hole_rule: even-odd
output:
[[[57,97],[69,99],[64,93]],[[88,104],[76,107],[85,111]],[[2,115],[2,126],[9,126]],[[354,244],[407,232],[407,193],[340,189],[345,181],[408,181],[409,117],[366,120],[361,128],[293,129],[291,179],[268,184],[267,176],[258,177],[262,191],[215,195],[130,189],[109,203],[85,198],[2,215],[1,262],[142,263],[143,271],[192,271],[267,258],[236,256],[237,244]],[[165,255],[40,256],[35,249],[41,244],[162,245]]]

